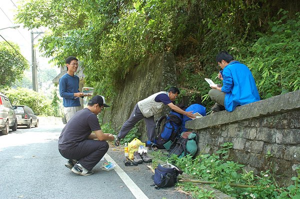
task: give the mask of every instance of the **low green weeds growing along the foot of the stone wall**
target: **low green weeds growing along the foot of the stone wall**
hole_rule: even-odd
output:
[[[218,182],[211,185],[221,192],[236,199],[297,199],[300,197],[300,168],[296,168],[297,176],[292,177],[293,185],[279,187],[269,171],[254,175],[253,171],[242,170],[243,165],[230,161],[228,152],[232,143],[224,143],[216,153],[200,153],[194,160],[188,155],[177,158],[175,155],[166,159],[161,152],[152,153],[155,158],[168,161],[183,170],[192,178],[201,181]],[[238,188],[229,184],[252,185],[255,188]],[[190,183],[179,183],[179,188],[192,192],[193,198],[213,197],[212,193],[199,190]],[[204,198],[205,198],[204,197]]]

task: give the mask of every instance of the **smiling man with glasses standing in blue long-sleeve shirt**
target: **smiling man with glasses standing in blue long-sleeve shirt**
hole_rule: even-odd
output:
[[[79,91],[79,77],[74,73],[78,68],[78,59],[74,56],[69,56],[65,59],[67,73],[59,79],[59,94],[62,97],[63,112],[68,122],[73,115],[81,110],[79,97],[84,97]]]

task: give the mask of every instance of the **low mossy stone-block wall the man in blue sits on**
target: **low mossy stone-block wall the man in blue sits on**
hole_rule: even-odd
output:
[[[199,148],[214,153],[233,143],[230,156],[254,173],[273,168],[281,184],[289,184],[300,166],[300,90],[188,121],[199,134]]]

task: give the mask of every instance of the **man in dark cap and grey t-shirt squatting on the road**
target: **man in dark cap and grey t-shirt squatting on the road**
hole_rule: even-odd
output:
[[[103,133],[99,125],[97,115],[104,107],[109,107],[104,97],[94,96],[87,108],[77,111],[61,131],[58,151],[62,157],[69,159],[64,166],[75,174],[93,174],[91,169],[108,150],[106,141],[114,140],[111,134]]]

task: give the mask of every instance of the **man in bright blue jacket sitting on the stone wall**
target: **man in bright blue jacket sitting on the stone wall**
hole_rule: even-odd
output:
[[[216,55],[216,61],[222,68],[218,77],[223,80],[223,86],[210,86],[212,89],[208,95],[216,102],[212,107],[214,112],[222,108],[231,112],[236,106],[260,100],[254,78],[246,65],[234,60],[226,51],[220,51]]]

